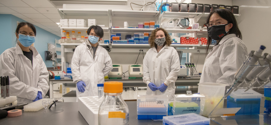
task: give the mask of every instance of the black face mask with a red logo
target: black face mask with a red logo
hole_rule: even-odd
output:
[[[225,27],[229,25],[227,24],[222,24],[222,25],[213,25],[207,29],[208,36],[214,40],[220,40],[223,38],[227,32],[225,31]],[[229,31],[228,31],[229,32]]]

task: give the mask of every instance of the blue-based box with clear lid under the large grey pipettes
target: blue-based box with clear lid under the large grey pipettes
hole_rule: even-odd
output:
[[[254,90],[238,89],[227,97],[227,108],[241,109],[235,115],[260,114],[262,94]]]

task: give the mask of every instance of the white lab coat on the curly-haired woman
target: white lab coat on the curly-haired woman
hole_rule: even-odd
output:
[[[147,84],[146,95],[167,95],[173,100],[175,94],[175,81],[180,71],[179,56],[175,48],[165,45],[159,53],[155,47],[148,50],[143,59],[143,82]],[[165,83],[164,92],[152,91],[148,84],[152,82],[157,87]]]

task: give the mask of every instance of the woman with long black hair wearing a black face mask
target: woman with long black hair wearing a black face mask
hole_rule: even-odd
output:
[[[237,21],[229,9],[215,9],[207,20],[207,50],[212,39],[217,43],[208,53],[200,83],[232,84],[234,74],[245,61],[247,47],[241,40]]]

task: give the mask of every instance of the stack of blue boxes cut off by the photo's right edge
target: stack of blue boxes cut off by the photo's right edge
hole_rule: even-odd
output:
[[[266,108],[264,113],[270,114],[271,113],[271,83],[266,84],[264,87],[265,87],[264,88],[264,96],[265,96],[264,108]],[[269,87],[269,88],[266,88],[266,87]]]

